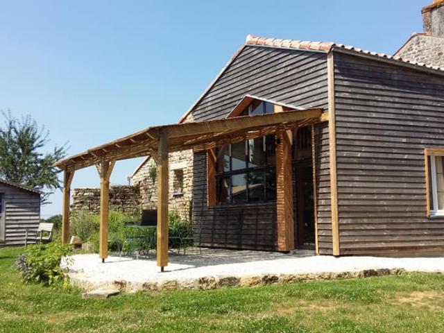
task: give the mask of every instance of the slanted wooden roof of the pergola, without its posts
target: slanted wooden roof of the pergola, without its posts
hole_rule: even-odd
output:
[[[60,169],[74,171],[102,161],[126,160],[151,155],[153,158],[162,137],[167,137],[168,152],[194,149],[204,151],[222,144],[262,137],[276,130],[290,130],[321,121],[321,108],[290,110],[273,114],[234,117],[153,126],[126,137],[72,155],[54,164]]]

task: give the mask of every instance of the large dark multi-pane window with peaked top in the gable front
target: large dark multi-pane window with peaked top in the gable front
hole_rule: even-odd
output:
[[[242,115],[273,112],[273,104],[254,101]],[[219,205],[276,200],[275,135],[226,144],[216,152]]]

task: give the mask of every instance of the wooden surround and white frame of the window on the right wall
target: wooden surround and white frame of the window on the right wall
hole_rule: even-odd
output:
[[[436,183],[436,156],[444,157],[444,148],[425,148],[425,187],[427,216],[444,217],[444,209],[438,208],[438,187]]]

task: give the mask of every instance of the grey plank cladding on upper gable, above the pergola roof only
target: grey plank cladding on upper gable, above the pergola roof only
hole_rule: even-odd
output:
[[[222,119],[246,94],[326,107],[327,57],[325,53],[246,46],[195,105],[194,120]]]

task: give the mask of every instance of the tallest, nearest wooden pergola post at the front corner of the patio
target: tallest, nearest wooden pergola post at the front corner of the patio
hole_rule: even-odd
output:
[[[159,136],[157,151],[157,266],[160,271],[168,266],[168,133]]]

